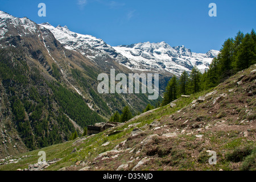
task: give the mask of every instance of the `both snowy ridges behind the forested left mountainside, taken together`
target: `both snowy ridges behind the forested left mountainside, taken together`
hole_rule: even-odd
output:
[[[102,39],[72,32],[67,26],[53,27],[49,23],[40,25],[50,30],[67,49],[79,51],[92,60],[98,55],[107,54],[134,71],[169,72],[180,76],[184,70],[190,72],[197,66],[204,72],[219,52],[210,50],[207,53],[195,53],[184,46],[171,47],[165,42],[112,47]]]

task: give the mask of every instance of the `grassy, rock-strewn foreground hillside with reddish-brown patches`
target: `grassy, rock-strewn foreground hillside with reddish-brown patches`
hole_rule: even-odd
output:
[[[35,164],[37,150],[22,154],[30,157],[16,164],[4,160],[0,169],[255,170],[255,78],[253,65],[216,88],[180,97],[100,134],[42,148],[46,168]],[[210,164],[214,152],[217,161]],[[61,160],[50,164],[54,158]]]

